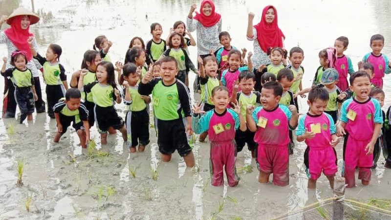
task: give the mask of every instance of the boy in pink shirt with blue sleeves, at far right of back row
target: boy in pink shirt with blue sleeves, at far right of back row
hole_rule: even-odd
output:
[[[370,48],[372,52],[367,53],[362,62],[371,63],[374,68],[374,77],[370,80],[375,86],[383,88],[384,74],[391,73],[391,61],[386,55],[381,53],[384,46],[384,37],[380,34],[375,34],[370,38]],[[360,66],[360,62],[358,64]]]

